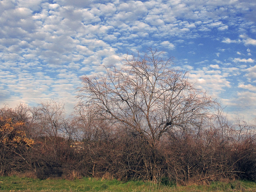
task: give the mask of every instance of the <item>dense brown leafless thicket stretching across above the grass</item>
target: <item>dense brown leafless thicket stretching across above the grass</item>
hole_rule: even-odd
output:
[[[2,108],[1,116],[19,122],[17,108]],[[90,125],[82,125],[79,115],[63,116],[56,135],[50,134],[36,117],[40,107],[26,110],[22,130],[34,143],[1,143],[1,175],[34,172],[41,179],[90,176],[180,184],[256,178],[255,127],[244,122],[211,119],[195,131],[172,130],[152,148],[127,126],[90,116]]]

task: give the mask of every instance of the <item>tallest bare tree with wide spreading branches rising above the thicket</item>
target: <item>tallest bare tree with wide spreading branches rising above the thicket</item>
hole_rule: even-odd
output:
[[[214,105],[210,97],[188,82],[187,74],[169,68],[172,58],[149,49],[143,57],[124,59],[124,66],[105,67],[105,75],[84,76],[81,105],[92,105],[104,119],[128,125],[154,151],[157,142],[172,129],[200,126]],[[155,166],[154,153],[150,167]],[[152,178],[156,172],[151,169]]]

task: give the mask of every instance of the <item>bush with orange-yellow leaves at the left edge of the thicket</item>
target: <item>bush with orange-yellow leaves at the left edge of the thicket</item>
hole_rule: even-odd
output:
[[[25,131],[21,130],[24,122],[13,122],[11,118],[0,117],[0,145],[25,144],[32,146],[34,140],[26,137]]]

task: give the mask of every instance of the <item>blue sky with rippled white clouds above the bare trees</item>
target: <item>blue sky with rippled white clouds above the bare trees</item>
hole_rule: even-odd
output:
[[[54,99],[67,113],[81,76],[148,48],[256,122],[255,0],[1,0],[0,107]]]

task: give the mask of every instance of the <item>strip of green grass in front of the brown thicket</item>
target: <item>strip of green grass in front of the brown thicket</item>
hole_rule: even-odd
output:
[[[118,180],[97,180],[82,178],[77,180],[47,179],[39,180],[26,177],[0,177],[0,191],[40,191],[40,192],[82,192],[82,191],[113,191],[113,192],[256,192],[256,183],[249,181],[212,182],[210,185],[165,186],[144,183],[142,181],[122,182]]]

